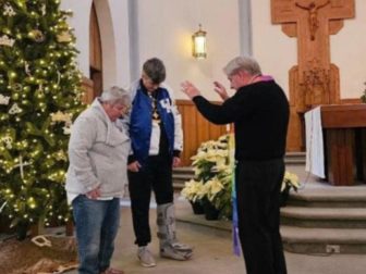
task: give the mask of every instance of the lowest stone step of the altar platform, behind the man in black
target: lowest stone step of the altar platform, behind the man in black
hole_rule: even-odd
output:
[[[181,198],[178,198],[178,201],[175,212],[179,222],[208,229],[207,233],[220,231],[225,233],[227,237],[231,237],[231,222],[207,221],[203,215],[194,215],[188,202],[183,202]],[[302,210],[312,211],[312,209]],[[357,219],[357,213],[351,214]],[[337,215],[342,214],[337,213]],[[325,256],[331,253],[366,254],[365,228],[315,228],[282,224],[281,235],[283,247],[290,252]]]

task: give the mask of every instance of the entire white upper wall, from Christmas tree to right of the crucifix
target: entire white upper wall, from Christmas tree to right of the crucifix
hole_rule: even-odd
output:
[[[136,9],[137,18],[129,18],[129,1]],[[167,83],[175,90],[178,99],[186,99],[180,91],[184,79],[195,83],[210,100],[219,100],[212,91],[212,82],[228,86],[222,67],[241,52],[239,3],[244,0],[96,0],[98,17],[105,22],[101,34],[106,85],[127,85],[138,77],[144,61],[151,57],[162,59],[167,65]],[[359,98],[366,80],[364,49],[366,48],[366,1],[355,0],[356,17],[345,20],[344,27],[331,36],[331,61],[340,67],[341,98]],[[71,20],[81,50],[80,65],[88,75],[88,24],[91,0],[62,0],[62,7],[75,13]],[[289,70],[297,63],[297,39],[290,38],[280,25],[272,25],[270,0],[252,0],[253,54],[265,74],[273,75],[289,92]],[[100,15],[103,14],[103,15]],[[130,15],[132,16],[132,15]],[[136,24],[130,24],[136,20]],[[108,20],[107,20],[108,21]],[[195,60],[192,57],[191,36],[198,24],[207,32],[208,57]],[[131,54],[129,24],[137,37],[137,57]],[[102,28],[102,26],[101,26]],[[106,46],[107,45],[107,46]],[[112,49],[112,50],[110,50]],[[107,54],[107,55],[106,55]],[[133,60],[132,60],[132,59]],[[138,63],[138,64],[137,64]],[[131,71],[135,68],[135,72]],[[107,73],[108,72],[108,73]]]

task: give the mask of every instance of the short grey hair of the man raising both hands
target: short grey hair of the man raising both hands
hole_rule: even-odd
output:
[[[228,76],[239,71],[247,72],[251,75],[261,74],[258,62],[252,57],[236,57],[223,67],[223,72]]]

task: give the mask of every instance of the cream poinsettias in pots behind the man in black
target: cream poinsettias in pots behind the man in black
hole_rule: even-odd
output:
[[[195,213],[202,213],[204,207],[206,211],[211,211],[211,216],[207,219],[219,216],[231,220],[233,169],[229,164],[229,135],[203,142],[191,159],[194,178],[185,183],[182,196],[191,202]],[[281,207],[285,205],[290,190],[296,191],[298,187],[297,175],[285,172],[281,187]]]

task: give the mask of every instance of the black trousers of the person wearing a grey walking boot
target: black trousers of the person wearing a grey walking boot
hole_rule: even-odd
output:
[[[151,241],[149,204],[154,190],[157,204],[173,202],[172,158],[149,157],[138,172],[129,172],[132,221],[139,247]]]

